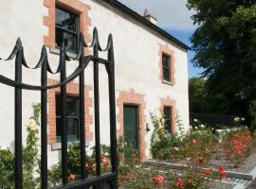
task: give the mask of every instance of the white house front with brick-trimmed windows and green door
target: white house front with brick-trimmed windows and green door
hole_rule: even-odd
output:
[[[160,6],[160,5],[159,5]],[[27,64],[39,60],[43,43],[47,46],[53,70],[59,63],[60,44],[65,38],[68,55],[75,57],[78,35],[82,31],[91,42],[93,27],[99,30],[105,47],[108,33],[114,37],[116,60],[116,104],[119,136],[134,141],[140,159],[150,157],[153,126],[150,112],[162,109],[168,118],[166,129],[176,131],[178,114],[184,127],[189,126],[188,46],[156,26],[153,16],[138,15],[115,0],[9,0],[0,4],[0,57],[7,58],[17,37],[21,37]],[[176,19],[176,18],[171,18]],[[86,51],[86,53],[91,53]],[[106,56],[100,53],[101,57]],[[0,74],[14,77],[14,61],[0,61]],[[77,67],[67,62],[67,74]],[[93,64],[85,70],[85,132],[87,146],[94,145]],[[23,82],[40,83],[40,71],[24,69]],[[48,83],[58,82],[59,75],[49,75]],[[68,141],[78,141],[78,80],[67,85]],[[101,144],[109,144],[109,102],[107,74],[100,66]],[[49,165],[61,156],[59,90],[48,91]],[[0,87],[0,146],[13,147],[13,89]],[[23,133],[26,134],[31,104],[40,102],[40,93],[23,92]],[[39,135],[40,136],[40,135]],[[26,137],[24,136],[24,143]]]

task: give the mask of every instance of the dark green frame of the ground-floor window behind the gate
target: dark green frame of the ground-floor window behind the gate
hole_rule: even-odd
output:
[[[56,139],[57,139],[57,143],[60,143],[62,140],[62,137],[60,135],[58,135],[57,131],[57,127],[58,127],[58,121],[57,119],[60,119],[61,118],[61,115],[58,115],[57,114],[57,102],[58,102],[58,99],[57,97],[61,97],[61,94],[55,94],[55,110],[56,110]],[[80,108],[79,108],[79,97],[78,96],[74,96],[74,95],[66,95],[66,98],[74,98],[76,100],[76,112],[77,112],[77,115],[66,115],[66,119],[76,119],[78,125],[76,127],[76,135],[67,135],[67,141],[68,142],[75,142],[75,141],[79,141],[80,139]]]

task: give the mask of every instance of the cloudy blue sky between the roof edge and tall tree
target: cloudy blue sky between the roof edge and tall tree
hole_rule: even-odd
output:
[[[194,13],[186,7],[187,0],[119,0],[127,7],[142,14],[144,9],[157,18],[157,26],[160,26],[175,38],[191,46],[190,37],[196,26],[192,25],[191,16]],[[202,72],[200,68],[194,68],[190,60],[194,53],[189,51],[189,77],[196,77]]]

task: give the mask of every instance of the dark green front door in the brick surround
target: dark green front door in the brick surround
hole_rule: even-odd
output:
[[[137,106],[125,105],[123,107],[124,140],[135,149],[138,149],[137,120]]]

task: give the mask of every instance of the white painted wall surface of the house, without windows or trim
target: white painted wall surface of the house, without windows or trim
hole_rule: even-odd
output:
[[[150,137],[153,126],[149,112],[157,112],[160,107],[160,97],[170,96],[176,101],[178,115],[184,124],[189,127],[189,98],[188,98],[188,69],[187,52],[166,41],[153,32],[122,16],[118,11],[106,8],[97,1],[82,0],[91,7],[89,17],[92,26],[89,32],[92,34],[94,26],[98,27],[101,46],[107,43],[108,33],[114,36],[114,48],[116,58],[116,97],[119,91],[135,89],[138,94],[145,94],[146,122],[151,131],[146,135],[147,157],[150,157]],[[18,36],[21,37],[25,48],[25,56],[29,66],[36,64],[40,57],[43,36],[48,32],[43,25],[43,16],[47,15],[42,0],[24,1],[9,0],[0,4],[0,57],[7,58]],[[174,50],[175,59],[175,85],[170,86],[161,83],[158,67],[158,43],[168,44]],[[101,57],[105,55],[100,54]],[[58,56],[49,53],[49,61],[54,69],[58,66]],[[77,67],[78,62],[68,63],[68,74]],[[85,83],[92,85],[92,65],[85,71]],[[14,61],[0,60],[0,74],[9,78],[14,77]],[[49,76],[59,78],[59,76]],[[40,72],[24,69],[24,82],[29,84],[40,83]],[[109,144],[109,111],[107,75],[105,69],[100,69],[101,83],[101,143]],[[93,92],[90,93],[93,97]],[[23,95],[23,125],[31,115],[31,103],[40,101],[37,92],[24,91]],[[0,85],[0,146],[13,146],[13,89]],[[93,109],[90,109],[93,113]],[[119,109],[117,108],[117,112]],[[118,124],[119,128],[119,124]],[[94,130],[94,125],[91,125]],[[23,133],[26,133],[24,127]],[[25,142],[24,135],[24,142]],[[94,145],[94,142],[90,143]],[[51,151],[48,146],[49,165],[56,163],[60,157],[60,151]]]

